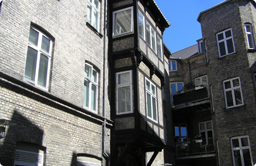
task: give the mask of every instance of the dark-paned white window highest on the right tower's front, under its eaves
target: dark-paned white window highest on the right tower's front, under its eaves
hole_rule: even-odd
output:
[[[232,29],[227,29],[216,35],[219,57],[235,53]]]

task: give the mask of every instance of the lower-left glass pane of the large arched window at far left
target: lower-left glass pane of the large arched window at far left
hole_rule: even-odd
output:
[[[34,50],[33,48],[28,47],[25,75],[24,75],[26,79],[30,79],[31,81],[34,81],[36,63],[37,63],[37,51]]]

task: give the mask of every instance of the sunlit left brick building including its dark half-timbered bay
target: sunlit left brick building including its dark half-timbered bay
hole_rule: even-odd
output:
[[[105,2],[0,0],[2,166],[174,163],[170,24],[153,0]]]

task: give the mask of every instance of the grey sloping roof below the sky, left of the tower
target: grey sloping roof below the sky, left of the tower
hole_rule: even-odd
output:
[[[174,58],[174,59],[187,59],[193,55],[198,54],[198,46],[197,44],[190,46],[188,48],[184,48],[180,51],[177,51],[175,53],[172,53],[172,55],[170,56],[170,58]]]

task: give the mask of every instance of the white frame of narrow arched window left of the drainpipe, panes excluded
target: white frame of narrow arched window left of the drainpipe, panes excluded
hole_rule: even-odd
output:
[[[85,67],[88,66],[91,68],[91,77],[86,77],[84,75],[84,82],[88,82],[89,83],[89,96],[88,96],[88,99],[89,99],[89,103],[88,103],[88,106],[84,105],[84,103],[86,102],[85,101],[85,97],[84,97],[84,100],[83,100],[83,106],[91,111],[94,111],[94,112],[97,112],[98,111],[98,71],[92,66],[90,65],[89,63],[85,63]],[[93,76],[93,72],[96,72],[96,82],[92,79],[92,76]],[[92,86],[95,86],[96,87],[96,96],[95,96],[95,110],[92,108],[91,106],[91,93],[92,93]],[[85,91],[84,91],[84,96],[85,96]]]

